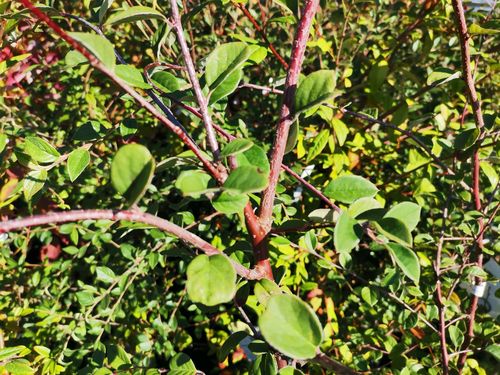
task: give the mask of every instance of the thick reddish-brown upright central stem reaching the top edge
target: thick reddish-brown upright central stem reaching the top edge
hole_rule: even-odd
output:
[[[274,197],[276,194],[276,185],[278,184],[279,174],[283,156],[285,155],[285,146],[288,139],[288,132],[293,121],[293,102],[297,82],[304,61],[307,39],[309,38],[309,29],[318,9],[319,0],[307,0],[304,4],[302,17],[299,21],[297,33],[293,42],[290,68],[286,77],[283,103],[281,105],[280,119],[276,131],[271,152],[271,172],[269,174],[269,186],[264,190],[262,202],[260,205],[259,218],[266,232],[271,229],[272,213],[274,206]]]

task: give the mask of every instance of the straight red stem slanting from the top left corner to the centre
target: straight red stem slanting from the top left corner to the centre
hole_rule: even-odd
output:
[[[80,45],[76,40],[70,37],[66,31],[61,29],[59,25],[57,25],[54,21],[52,21],[44,12],[35,7],[30,0],[20,0],[20,2],[28,8],[31,13],[38,18],[40,21],[43,21],[47,26],[49,26],[57,35],[59,35],[64,41],[66,41],[71,47],[73,47],[76,51],[80,52],[85,58],[89,61],[89,64],[95,69],[101,71],[106,76],[108,76],[112,81],[115,82],[116,85],[121,87],[127,94],[132,96],[138,104],[140,104],[143,108],[145,108],[148,112],[150,112],[157,120],[166,125],[171,131],[173,131],[186,146],[188,146],[196,157],[203,163],[204,167],[210,172],[216,179],[222,179],[221,173],[218,169],[212,165],[212,163],[207,160],[201,150],[198,148],[196,143],[185,134],[181,128],[176,126],[172,121],[166,118],[161,112],[159,112],[151,103],[149,103],[146,99],[144,99],[137,91],[128,86],[124,81],[122,81],[116,74],[108,69],[104,64],[102,64],[94,55],[92,55],[86,48]]]

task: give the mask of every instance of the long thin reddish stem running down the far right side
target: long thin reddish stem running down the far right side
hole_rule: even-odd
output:
[[[463,80],[465,81],[465,89],[467,91],[467,97],[469,99],[470,105],[472,107],[472,114],[474,116],[474,122],[476,123],[476,127],[479,130],[479,138],[478,143],[476,144],[474,154],[472,157],[472,195],[474,197],[474,206],[477,211],[481,211],[481,189],[479,185],[480,180],[480,165],[479,165],[479,146],[480,142],[483,138],[483,128],[484,128],[484,120],[483,114],[481,111],[481,102],[478,99],[476,87],[474,84],[474,76],[472,73],[471,67],[471,57],[470,57],[470,45],[469,39],[470,35],[467,30],[467,21],[465,20],[465,12],[462,4],[462,0],[452,0],[455,20],[457,23],[458,36],[460,39],[460,50],[462,57],[462,73]],[[483,226],[484,222],[482,218],[479,219],[479,236],[476,239],[475,246],[473,247],[476,250],[475,263],[476,266],[482,268],[483,266]],[[472,254],[474,255],[474,254]],[[475,283],[479,284],[482,280],[479,277],[476,277]],[[458,371],[462,372],[463,367],[465,365],[465,361],[467,360],[467,355],[469,353],[468,349],[472,342],[472,338],[474,337],[474,322],[476,318],[476,310],[477,304],[479,301],[479,297],[477,295],[473,295],[471,299],[470,308],[468,311],[468,327],[467,333],[464,338],[464,343],[461,348],[461,354],[458,357]]]

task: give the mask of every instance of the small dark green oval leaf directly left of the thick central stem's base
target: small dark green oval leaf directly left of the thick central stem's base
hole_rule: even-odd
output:
[[[223,187],[236,193],[254,193],[264,190],[267,184],[267,174],[260,168],[241,166],[230,173]]]

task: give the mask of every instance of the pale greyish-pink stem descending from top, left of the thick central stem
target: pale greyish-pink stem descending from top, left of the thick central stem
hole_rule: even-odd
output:
[[[217,137],[215,135],[215,130],[212,124],[212,118],[210,117],[210,113],[208,112],[208,100],[203,95],[203,92],[200,87],[200,82],[198,81],[198,77],[196,76],[196,69],[194,67],[193,60],[191,58],[191,54],[186,43],[186,38],[184,38],[184,30],[182,29],[181,16],[179,14],[179,7],[177,5],[176,0],[170,0],[170,5],[172,8],[172,18],[174,22],[174,29],[177,34],[177,40],[181,46],[182,57],[184,58],[184,62],[186,63],[186,68],[189,75],[189,80],[191,81],[191,85],[193,86],[193,91],[196,95],[196,100],[200,106],[200,112],[203,117],[203,124],[205,125],[205,130],[207,131],[207,139],[208,144],[212,150],[214,158],[217,160],[219,158],[219,144],[217,142]]]

